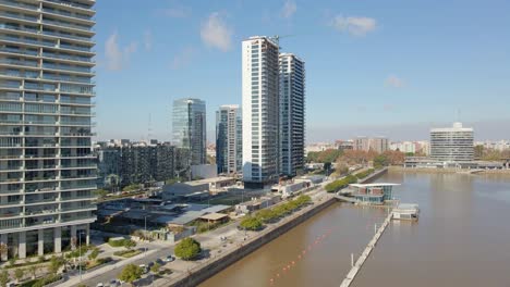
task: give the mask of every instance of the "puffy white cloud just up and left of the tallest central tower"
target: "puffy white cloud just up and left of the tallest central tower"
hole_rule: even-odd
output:
[[[232,43],[232,28],[227,26],[218,12],[215,12],[202,25],[201,37],[205,45],[224,52]]]

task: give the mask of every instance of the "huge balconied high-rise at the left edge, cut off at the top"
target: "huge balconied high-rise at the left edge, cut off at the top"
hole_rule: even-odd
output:
[[[2,260],[89,242],[95,2],[0,2]]]

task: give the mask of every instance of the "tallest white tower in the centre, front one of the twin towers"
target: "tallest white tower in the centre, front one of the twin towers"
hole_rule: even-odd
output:
[[[243,180],[260,187],[278,179],[279,47],[268,37],[242,43]]]

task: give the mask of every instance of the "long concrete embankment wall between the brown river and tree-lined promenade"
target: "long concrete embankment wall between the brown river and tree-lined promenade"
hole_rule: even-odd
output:
[[[282,219],[281,222],[276,226],[268,226],[266,229],[259,232],[255,237],[250,238],[245,241],[244,245],[226,251],[221,255],[209,259],[208,261],[202,263],[193,270],[190,270],[187,274],[184,274],[180,277],[174,278],[170,283],[166,283],[165,286],[171,287],[189,287],[196,286],[199,283],[211,277],[216,273],[222,271],[229,265],[233,264],[238,260],[246,257],[264,245],[270,242],[280,235],[287,233],[289,229],[295,227],[296,225],[305,222],[309,217],[314,216],[318,212],[323,211],[327,207],[336,202],[336,199],[328,197],[324,201],[315,203],[312,207],[305,208],[296,213],[292,214],[288,219]]]

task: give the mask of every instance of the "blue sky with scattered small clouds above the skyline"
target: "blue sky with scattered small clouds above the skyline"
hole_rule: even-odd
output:
[[[99,0],[97,138],[171,140],[179,98],[241,104],[241,41],[305,61],[307,142],[427,139],[454,121],[510,138],[510,1]]]

